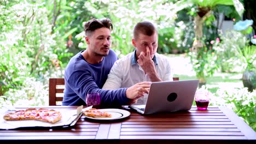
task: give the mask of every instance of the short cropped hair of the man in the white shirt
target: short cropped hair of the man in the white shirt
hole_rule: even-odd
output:
[[[151,22],[143,21],[137,23],[137,25],[133,28],[133,38],[137,39],[140,33],[151,36],[154,33],[158,33],[158,30]]]

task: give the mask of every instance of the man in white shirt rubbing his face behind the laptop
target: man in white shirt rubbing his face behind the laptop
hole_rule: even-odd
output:
[[[172,81],[168,59],[158,54],[158,31],[153,23],[143,21],[133,28],[134,52],[113,65],[103,89],[130,87],[142,81]]]

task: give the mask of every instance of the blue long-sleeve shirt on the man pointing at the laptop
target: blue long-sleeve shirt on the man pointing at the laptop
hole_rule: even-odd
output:
[[[101,95],[101,105],[125,105],[130,99],[126,98],[126,89],[101,89],[106,82],[110,69],[118,57],[113,50],[98,64],[88,63],[77,53],[69,61],[65,69],[65,90],[62,105],[86,105],[86,94],[98,92]]]

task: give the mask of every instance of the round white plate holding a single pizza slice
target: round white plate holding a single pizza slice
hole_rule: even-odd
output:
[[[129,117],[131,115],[131,112],[126,110],[121,110],[121,109],[98,109],[98,110],[102,112],[107,112],[111,114],[112,117],[88,117],[88,116],[85,116],[85,117],[90,119],[97,119],[97,120],[115,120],[115,119]]]

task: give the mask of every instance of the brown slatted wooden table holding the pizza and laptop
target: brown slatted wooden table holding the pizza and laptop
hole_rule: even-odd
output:
[[[48,106],[75,109],[74,106]],[[131,111],[131,110],[130,110]],[[209,107],[199,111],[131,116],[95,122],[82,116],[72,128],[0,130],[0,143],[256,143],[256,133],[232,110]]]

